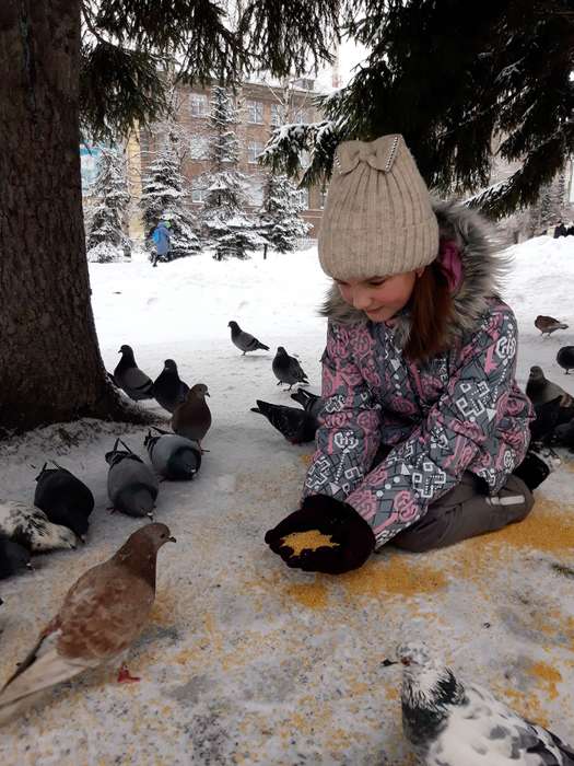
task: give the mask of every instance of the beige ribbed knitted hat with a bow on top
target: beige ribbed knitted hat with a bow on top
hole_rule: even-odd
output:
[[[335,279],[412,271],[438,254],[429,189],[402,136],[337,148],[318,240]]]

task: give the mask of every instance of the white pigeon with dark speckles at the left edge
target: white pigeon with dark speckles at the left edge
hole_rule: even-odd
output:
[[[52,524],[39,508],[0,500],[0,534],[34,554],[75,548],[78,538],[67,526]]]

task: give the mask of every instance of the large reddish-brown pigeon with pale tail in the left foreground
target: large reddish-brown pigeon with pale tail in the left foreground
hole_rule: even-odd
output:
[[[1,689],[0,723],[31,704],[38,692],[105,662],[121,663],[150,615],[157,552],[167,542],[175,538],[165,524],[147,524],[109,560],[80,577]],[[117,680],[139,681],[125,664]]]

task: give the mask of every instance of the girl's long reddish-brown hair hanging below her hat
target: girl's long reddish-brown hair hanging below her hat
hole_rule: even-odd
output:
[[[414,282],[410,307],[412,325],[405,353],[411,361],[426,361],[448,348],[454,311],[448,279],[438,260],[426,266]]]

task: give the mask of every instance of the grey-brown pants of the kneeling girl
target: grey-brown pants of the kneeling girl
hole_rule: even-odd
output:
[[[422,519],[391,543],[412,553],[444,548],[522,521],[532,509],[532,492],[513,474],[495,497],[481,489],[480,479],[467,471],[460,484],[429,506]]]

